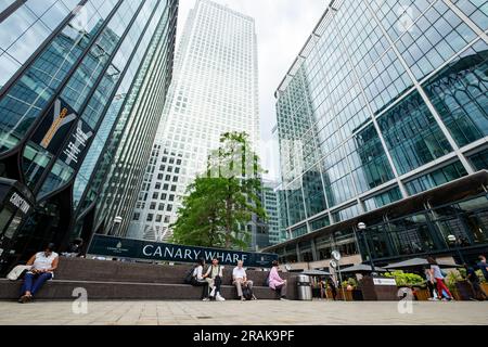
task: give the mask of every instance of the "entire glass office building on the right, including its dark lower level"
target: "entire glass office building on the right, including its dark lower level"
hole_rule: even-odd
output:
[[[267,250],[488,252],[487,4],[330,2],[275,93],[290,240]]]

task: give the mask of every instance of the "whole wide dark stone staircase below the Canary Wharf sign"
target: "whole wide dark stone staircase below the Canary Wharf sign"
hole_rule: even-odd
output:
[[[74,299],[75,288],[85,288],[89,299],[94,300],[193,300],[202,296],[202,287],[183,284],[183,279],[192,266],[162,266],[152,264],[113,260],[91,260],[82,258],[60,258],[54,279],[48,281],[36,299]],[[223,269],[222,295],[226,299],[236,299],[232,285],[233,267]],[[254,282],[254,294],[258,299],[277,299],[278,293],[265,285],[268,272],[247,270]],[[288,282],[287,298],[296,299],[296,277],[280,274]],[[0,299],[18,298],[22,280],[0,279]]]

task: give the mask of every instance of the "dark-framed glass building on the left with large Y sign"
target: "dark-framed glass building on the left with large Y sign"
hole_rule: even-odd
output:
[[[3,264],[48,242],[88,245],[129,219],[170,85],[177,11],[177,0],[2,1]]]

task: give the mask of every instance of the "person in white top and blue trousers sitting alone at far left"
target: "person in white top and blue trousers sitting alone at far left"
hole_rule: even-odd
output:
[[[36,253],[27,261],[27,265],[31,266],[31,268],[24,277],[18,303],[24,304],[30,301],[46,281],[54,277],[54,271],[57,269],[60,262],[60,257],[54,252],[54,244],[50,243],[44,252]]]

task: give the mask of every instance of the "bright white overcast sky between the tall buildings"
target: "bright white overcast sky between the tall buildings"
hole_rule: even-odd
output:
[[[255,18],[259,65],[261,140],[271,140],[277,124],[274,91],[316,27],[328,0],[214,0]],[[177,42],[195,0],[180,0]],[[261,144],[261,159],[269,156]],[[277,179],[275,163],[264,165]]]

